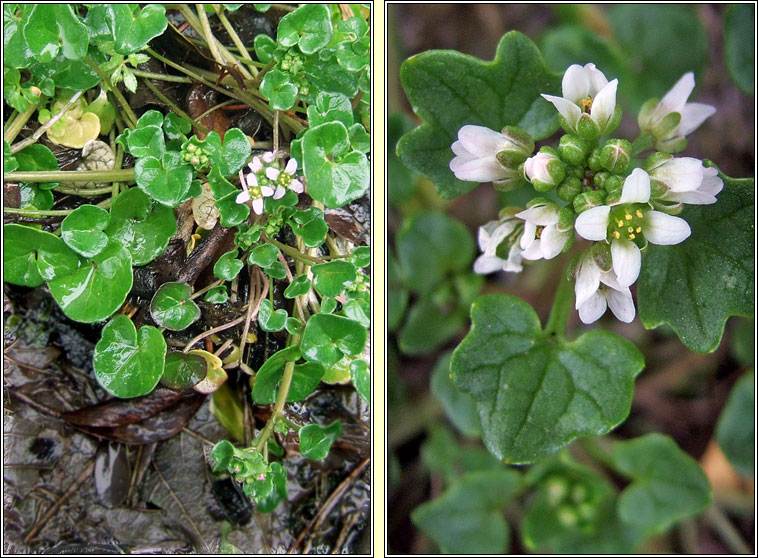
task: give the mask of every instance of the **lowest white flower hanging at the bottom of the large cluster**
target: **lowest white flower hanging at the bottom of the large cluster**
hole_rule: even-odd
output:
[[[629,287],[619,284],[613,270],[601,270],[589,253],[579,260],[574,293],[579,319],[585,324],[597,321],[609,306],[622,322],[629,323],[634,319],[636,312]]]

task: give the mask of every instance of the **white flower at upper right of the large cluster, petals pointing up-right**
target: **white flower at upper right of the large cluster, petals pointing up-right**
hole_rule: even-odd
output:
[[[656,148],[670,153],[681,151],[687,145],[685,136],[694,132],[706,118],[716,112],[716,107],[703,103],[688,103],[692,90],[695,88],[695,75],[692,72],[684,74],[676,82],[663,99],[654,107],[643,106],[639,114],[641,130],[650,131],[656,139]],[[670,122],[664,122],[671,113],[679,113],[681,119],[671,128]]]

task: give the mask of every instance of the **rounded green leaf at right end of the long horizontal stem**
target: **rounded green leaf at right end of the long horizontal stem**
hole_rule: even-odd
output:
[[[163,161],[148,156],[137,159],[134,165],[137,186],[148,196],[168,207],[176,207],[189,199],[192,173],[192,167],[185,164],[176,151],[166,152]]]

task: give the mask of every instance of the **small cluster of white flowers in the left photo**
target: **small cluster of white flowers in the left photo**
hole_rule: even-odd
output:
[[[252,200],[253,211],[257,215],[263,213],[264,199],[282,198],[287,190],[296,194],[303,193],[303,183],[298,180],[297,160],[290,159],[284,170],[281,170],[276,162],[273,152],[264,153],[253,157],[253,162],[248,165],[250,172],[244,174],[240,171],[240,185],[242,192],[237,195],[237,203],[247,203]]]

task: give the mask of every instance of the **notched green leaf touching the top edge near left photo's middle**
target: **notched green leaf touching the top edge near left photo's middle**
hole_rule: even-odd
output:
[[[151,39],[161,35],[168,26],[166,8],[148,4],[135,12],[134,4],[109,4],[112,13],[113,38],[116,52],[132,54],[147,46]]]

